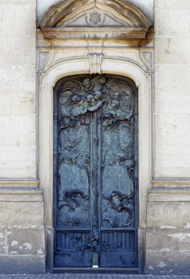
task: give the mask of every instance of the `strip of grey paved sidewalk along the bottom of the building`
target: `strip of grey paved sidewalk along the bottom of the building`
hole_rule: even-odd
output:
[[[190,279],[190,275],[125,275],[108,273],[0,274],[0,279]]]

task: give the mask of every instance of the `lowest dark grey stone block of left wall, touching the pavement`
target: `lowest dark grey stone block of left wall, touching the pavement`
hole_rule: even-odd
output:
[[[44,255],[0,255],[1,273],[42,274],[45,272]]]

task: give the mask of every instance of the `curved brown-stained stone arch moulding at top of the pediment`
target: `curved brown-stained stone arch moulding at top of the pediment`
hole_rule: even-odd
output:
[[[123,23],[130,28],[150,28],[150,20],[144,13],[125,0],[68,0],[55,4],[42,17],[41,28],[58,28],[64,19],[73,18],[74,15],[84,13],[87,9],[102,9],[108,13],[120,15]],[[120,26],[121,27],[121,26]]]

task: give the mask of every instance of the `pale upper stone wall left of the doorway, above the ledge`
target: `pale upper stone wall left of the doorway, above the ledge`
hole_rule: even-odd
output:
[[[36,178],[36,2],[0,5],[0,178]]]

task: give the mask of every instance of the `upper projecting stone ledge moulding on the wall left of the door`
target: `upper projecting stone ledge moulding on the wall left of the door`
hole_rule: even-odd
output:
[[[38,179],[0,179],[1,188],[37,188],[40,180]]]

